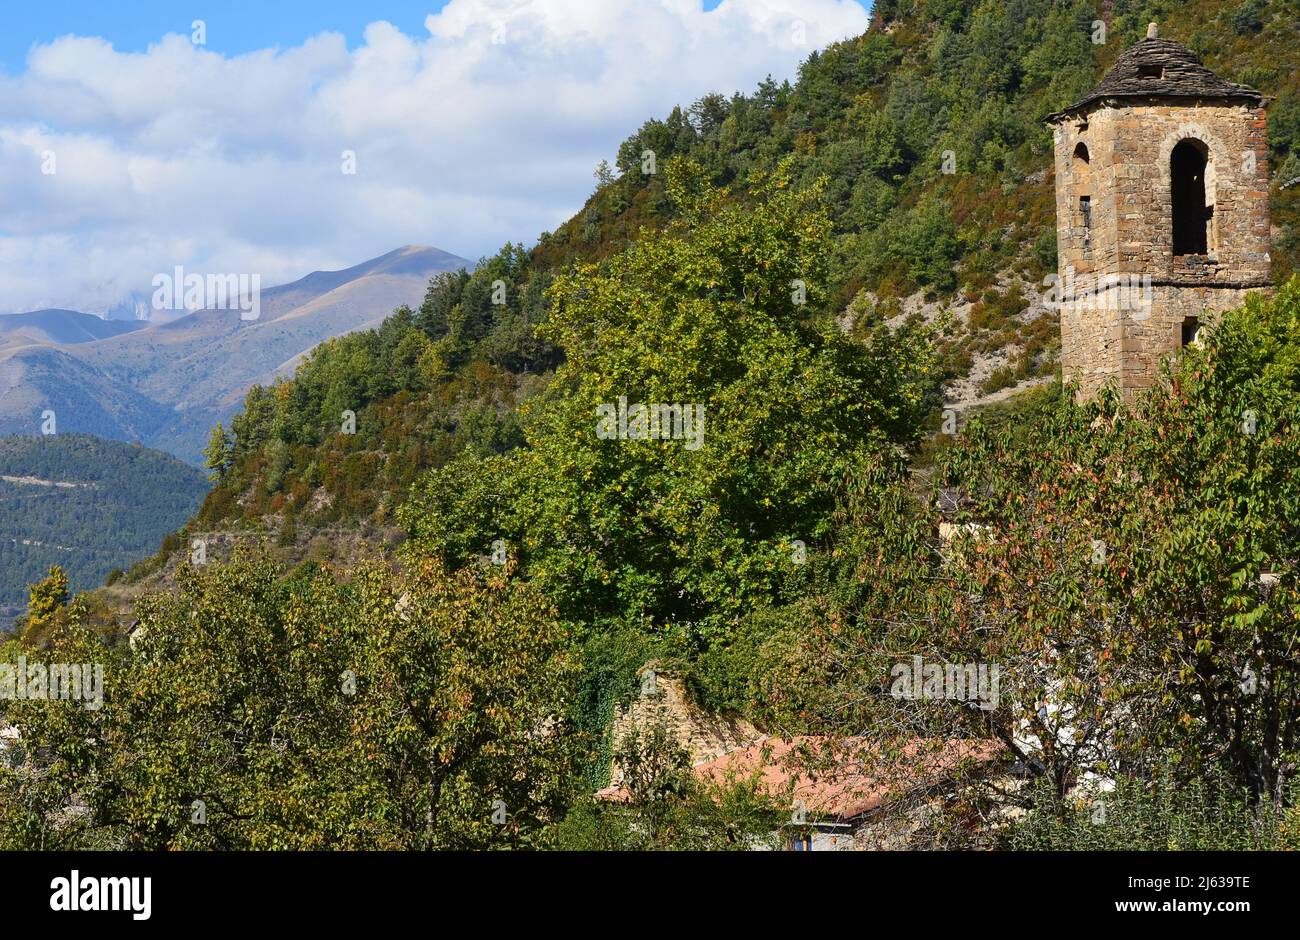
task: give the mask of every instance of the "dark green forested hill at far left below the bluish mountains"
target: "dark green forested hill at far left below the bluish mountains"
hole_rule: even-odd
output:
[[[203,475],[147,447],[86,434],[0,437],[0,628],[51,566],[101,584],[194,511]]]

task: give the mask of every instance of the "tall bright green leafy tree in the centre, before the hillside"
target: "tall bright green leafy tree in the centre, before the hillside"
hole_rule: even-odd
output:
[[[433,473],[404,520],[455,564],[502,540],[567,619],[708,642],[826,533],[849,468],[916,438],[930,365],[918,330],[818,325],[816,190],[777,176],[736,203],[689,166],[668,187],[667,233],[551,289],[566,361],[525,408],[528,446]],[[620,399],[698,410],[698,437],[604,439]]]

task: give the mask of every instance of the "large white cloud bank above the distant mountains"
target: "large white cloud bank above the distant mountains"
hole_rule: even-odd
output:
[[[646,118],[866,27],[855,0],[452,0],[351,51],[65,36],[0,77],[0,309],[103,309],[176,264],[276,283],[406,243],[532,243]]]

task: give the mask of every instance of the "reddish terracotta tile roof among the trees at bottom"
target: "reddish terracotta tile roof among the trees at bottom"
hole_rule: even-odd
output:
[[[889,798],[942,781],[962,762],[987,763],[1000,753],[996,741],[916,738],[898,758],[907,767],[907,783],[900,784],[883,771],[879,748],[866,738],[832,742],[818,736],[763,737],[693,770],[698,779],[716,784],[748,779],[758,771],[771,797],[801,802],[810,818],[853,819]],[[621,787],[606,787],[595,796],[614,802],[628,800]]]

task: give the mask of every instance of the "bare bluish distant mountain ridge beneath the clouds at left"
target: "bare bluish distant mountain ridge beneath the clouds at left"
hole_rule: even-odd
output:
[[[342,270],[261,290],[260,317],[203,309],[161,321],[48,309],[0,316],[0,433],[140,441],[198,464],[208,432],[255,384],[291,371],[332,337],[417,306],[434,274],[472,263],[406,246]]]

